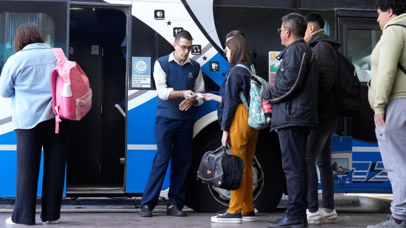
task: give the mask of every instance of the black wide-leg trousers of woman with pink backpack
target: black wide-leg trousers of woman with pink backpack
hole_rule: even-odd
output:
[[[65,180],[67,143],[70,120],[59,123],[55,134],[55,119],[43,121],[32,129],[16,129],[17,186],[16,203],[11,220],[18,224],[35,224],[37,186],[41,151],[44,149],[44,176],[42,183],[42,221],[60,217]]]

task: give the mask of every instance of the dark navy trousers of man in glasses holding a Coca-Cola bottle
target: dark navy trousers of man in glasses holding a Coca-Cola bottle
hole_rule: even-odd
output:
[[[308,167],[306,150],[310,128],[289,127],[278,129],[282,151],[282,167],[286,176],[288,200],[285,216],[293,220],[306,218],[308,195]]]

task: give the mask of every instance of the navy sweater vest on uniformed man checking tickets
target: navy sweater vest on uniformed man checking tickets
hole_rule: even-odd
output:
[[[194,81],[199,75],[200,64],[193,59],[190,59],[191,63],[185,63],[181,66],[175,61],[168,62],[168,60],[169,55],[156,60],[161,65],[162,70],[166,73],[167,88],[173,88],[175,91],[193,91]],[[156,115],[177,120],[195,119],[194,107],[191,107],[187,111],[179,110],[179,104],[182,100],[184,100],[184,98],[162,100],[158,97]]]

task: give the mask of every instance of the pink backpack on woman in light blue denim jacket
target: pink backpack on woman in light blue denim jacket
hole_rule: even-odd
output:
[[[92,106],[89,79],[78,63],[69,61],[62,49],[53,48],[58,60],[51,74],[52,110],[55,133],[59,133],[60,118],[81,120]]]

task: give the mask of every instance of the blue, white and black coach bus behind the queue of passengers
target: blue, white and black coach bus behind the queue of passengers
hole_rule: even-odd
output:
[[[352,60],[362,82],[362,112],[341,118],[333,138],[335,192],[390,193],[366,95],[370,53],[382,34],[374,4],[374,0],[0,0],[0,69],[14,54],[17,27],[37,24],[45,43],[62,48],[80,64],[93,90],[90,112],[72,126],[63,196],[142,196],[156,154],[152,66],[173,51],[176,32],[192,34],[189,57],[200,63],[206,92],[218,93],[229,67],[222,51],[229,31],[245,33],[257,53],[258,75],[269,80],[279,64],[275,56],[284,49],[277,32],[281,18],[319,13],[326,20],[327,34],[342,43],[340,51]],[[123,100],[124,116],[115,107]],[[16,135],[10,105],[10,99],[0,98],[0,197],[16,195]],[[197,181],[196,171],[202,155],[221,145],[222,132],[215,102],[194,108],[186,205],[196,212],[215,212],[228,205],[231,193]],[[252,164],[254,204],[260,212],[275,210],[286,194],[278,134],[269,130],[260,131]],[[42,173],[38,197],[41,177]],[[161,196],[167,195],[168,187],[166,175]]]

